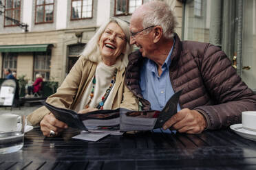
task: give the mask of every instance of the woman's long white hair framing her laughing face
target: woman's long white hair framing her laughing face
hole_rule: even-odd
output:
[[[98,31],[96,32],[96,34],[94,34],[92,39],[89,40],[89,42],[87,43],[85,49],[81,53],[81,57],[96,63],[99,63],[102,61],[102,58],[100,56],[98,41],[100,40],[100,36],[103,34],[103,32],[105,31],[109,23],[117,23],[119,27],[121,27],[122,31],[125,33],[125,38],[126,38],[125,53],[121,53],[116,60],[116,69],[122,70],[122,69],[125,69],[125,67],[128,64],[128,55],[132,51],[132,46],[129,44],[130,42],[129,24],[126,21],[122,21],[120,19],[111,18],[109,19],[109,21],[101,25]]]

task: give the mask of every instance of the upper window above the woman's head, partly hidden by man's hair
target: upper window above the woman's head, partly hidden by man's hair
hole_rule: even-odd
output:
[[[115,0],[115,16],[132,14],[143,0]]]

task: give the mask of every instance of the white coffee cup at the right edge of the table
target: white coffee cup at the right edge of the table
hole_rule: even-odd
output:
[[[242,112],[242,125],[246,130],[256,131],[256,111]]]

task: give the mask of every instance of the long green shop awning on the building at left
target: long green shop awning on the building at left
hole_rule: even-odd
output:
[[[48,48],[53,47],[52,44],[41,45],[0,45],[0,52],[35,52],[47,51]]]

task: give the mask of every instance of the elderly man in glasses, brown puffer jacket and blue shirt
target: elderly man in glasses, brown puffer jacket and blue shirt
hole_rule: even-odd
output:
[[[142,109],[162,110],[183,89],[178,112],[163,125],[197,134],[241,122],[241,112],[256,110],[256,95],[242,82],[231,61],[209,43],[181,41],[169,6],[141,5],[131,16],[131,44],[125,83]]]

